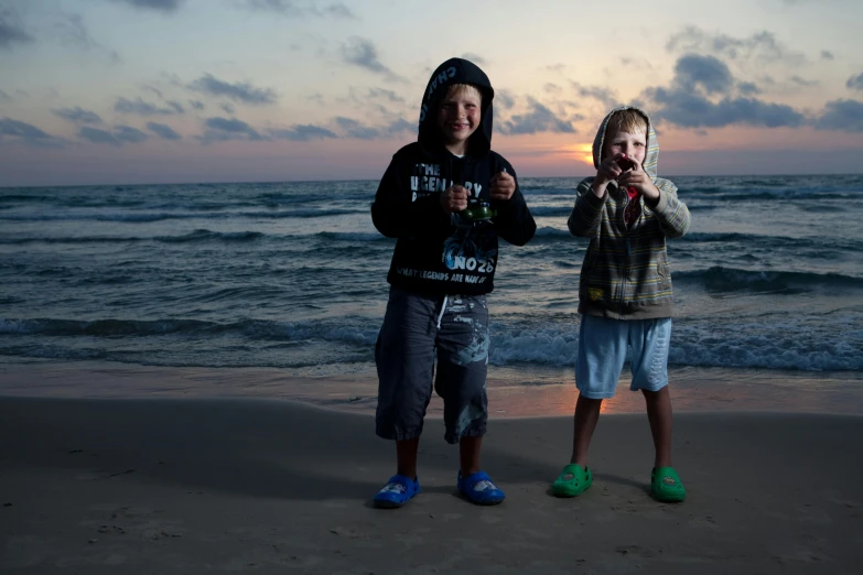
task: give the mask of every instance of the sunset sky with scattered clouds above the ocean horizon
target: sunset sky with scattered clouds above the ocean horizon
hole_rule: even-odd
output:
[[[0,0],[0,186],[377,180],[477,63],[522,176],[637,104],[662,175],[863,173],[863,2]]]

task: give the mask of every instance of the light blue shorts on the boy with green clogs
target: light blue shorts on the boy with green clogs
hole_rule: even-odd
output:
[[[589,399],[614,397],[627,351],[633,391],[659,391],[668,384],[671,318],[610,319],[581,316],[575,387]]]

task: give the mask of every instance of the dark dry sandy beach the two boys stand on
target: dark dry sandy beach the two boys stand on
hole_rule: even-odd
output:
[[[367,413],[261,399],[0,399],[0,572],[859,573],[863,417],[680,413],[682,505],[648,496],[643,414],[606,414],[595,484],[555,499],[571,420],[493,419],[484,466],[507,492],[454,489],[440,420],[423,492],[369,499],[393,471]]]

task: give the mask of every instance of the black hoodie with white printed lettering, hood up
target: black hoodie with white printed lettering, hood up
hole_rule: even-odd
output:
[[[483,95],[481,122],[460,159],[446,150],[435,117],[438,105],[453,84],[470,84]],[[492,151],[492,100],[488,77],[473,63],[451,58],[434,70],[422,98],[417,142],[392,156],[371,204],[375,227],[398,238],[387,281],[395,288],[430,294],[484,294],[494,289],[497,238],[524,246],[537,229],[518,188],[515,170]],[[490,180],[498,172],[516,178],[506,202],[490,198]],[[466,187],[471,199],[488,202],[497,213],[490,220],[471,221],[445,214],[441,194]]]

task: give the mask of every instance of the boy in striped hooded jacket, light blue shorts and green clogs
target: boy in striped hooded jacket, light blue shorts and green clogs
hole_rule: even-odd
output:
[[[552,485],[558,497],[575,497],[593,482],[587,451],[603,399],[613,398],[632,350],[633,391],[644,393],[656,458],[651,493],[682,501],[686,489],[671,467],[671,399],[668,346],[673,295],[666,238],[689,228],[689,210],[677,187],[656,174],[659,147],[640,109],[614,109],[593,142],[596,176],[578,186],[568,226],[590,238],[579,283],[579,356],[570,464]]]

